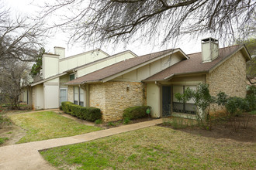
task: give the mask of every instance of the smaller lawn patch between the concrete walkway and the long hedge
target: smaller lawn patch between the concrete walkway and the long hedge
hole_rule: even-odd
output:
[[[80,124],[51,111],[12,114],[9,117],[16,125],[27,131],[17,143],[42,141],[101,130],[101,128]]]

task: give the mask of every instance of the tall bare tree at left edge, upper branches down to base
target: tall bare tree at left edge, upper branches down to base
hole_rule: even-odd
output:
[[[28,78],[47,29],[43,22],[14,15],[0,0],[0,99],[19,109],[19,95]]]

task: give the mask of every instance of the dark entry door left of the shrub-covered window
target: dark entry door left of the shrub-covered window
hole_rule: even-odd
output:
[[[171,87],[162,87],[162,116],[171,116]]]

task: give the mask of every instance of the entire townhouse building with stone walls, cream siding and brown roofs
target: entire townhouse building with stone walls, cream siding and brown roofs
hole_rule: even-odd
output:
[[[76,59],[84,59],[82,55],[64,58],[63,50],[57,52],[59,56],[43,56],[43,80],[31,84],[33,106],[57,108],[68,100],[99,107],[103,121],[122,119],[126,107],[143,104],[152,107],[152,117],[195,117],[192,100],[183,104],[174,94],[199,83],[209,83],[212,95],[223,91],[245,97],[246,61],[251,59],[245,46],[219,49],[213,38],[202,39],[202,53],[189,55],[182,49],[138,57],[130,51],[108,56],[99,50],[101,57],[86,63],[92,53],[84,53],[85,63],[80,63]]]

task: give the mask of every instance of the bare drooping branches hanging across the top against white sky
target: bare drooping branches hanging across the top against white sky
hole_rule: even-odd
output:
[[[166,44],[185,34],[247,36],[254,33],[247,28],[255,25],[255,7],[254,0],[56,0],[44,6],[43,17],[66,10],[55,26],[71,31],[74,42],[158,39]]]

